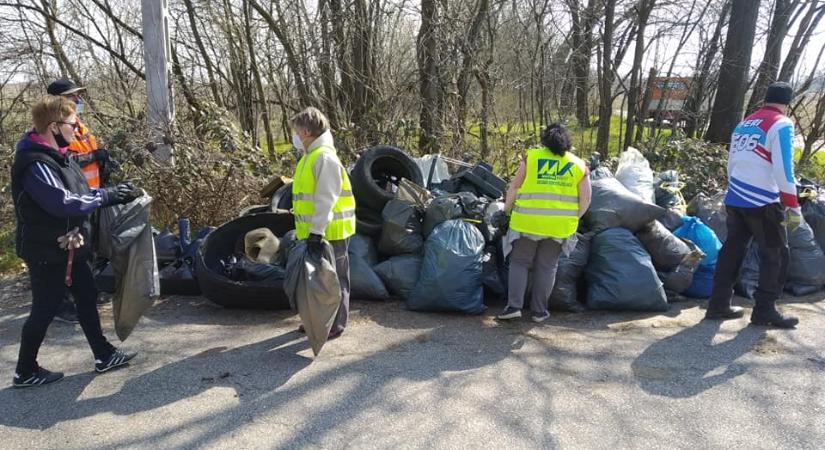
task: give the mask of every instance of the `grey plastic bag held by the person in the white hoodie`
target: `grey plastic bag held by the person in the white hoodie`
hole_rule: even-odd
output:
[[[341,305],[341,285],[335,273],[332,245],[322,241],[321,259],[307,252],[305,240],[295,243],[286,264],[284,291],[293,309],[298,310],[304,324],[312,353],[318,356],[329,337],[329,331]]]

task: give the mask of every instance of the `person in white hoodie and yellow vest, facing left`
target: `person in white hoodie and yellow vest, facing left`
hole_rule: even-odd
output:
[[[355,234],[355,197],[349,176],[329,130],[329,120],[309,107],[291,119],[292,145],[303,151],[292,182],[295,237],[307,241],[307,251],[320,258],[322,239],[332,244],[335,270],[341,285],[341,306],[329,333],[334,339],[344,332],[349,318],[349,238]],[[303,331],[303,327],[299,327]]]

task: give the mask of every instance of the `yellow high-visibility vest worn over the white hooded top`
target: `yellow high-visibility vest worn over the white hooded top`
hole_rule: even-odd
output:
[[[295,169],[292,182],[292,212],[295,214],[295,237],[306,239],[312,228],[312,215],[315,212],[315,172],[312,170],[315,159],[326,153],[338,161],[335,148],[322,145],[301,157]],[[338,161],[341,170],[341,194],[332,207],[332,221],[324,231],[324,239],[338,241],[355,234],[355,197],[347,171]]]

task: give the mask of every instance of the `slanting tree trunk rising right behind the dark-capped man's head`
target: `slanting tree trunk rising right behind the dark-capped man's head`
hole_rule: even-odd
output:
[[[799,4],[799,0],[776,0],[771,19],[770,31],[768,31],[768,43],[765,48],[765,56],[757,69],[756,82],[751,91],[747,113],[753,112],[759,107],[768,85],[776,81],[779,75],[779,60],[782,57],[782,41],[788,34],[790,28],[791,12]]]

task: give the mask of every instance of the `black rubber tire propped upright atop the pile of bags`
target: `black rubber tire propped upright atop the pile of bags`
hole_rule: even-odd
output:
[[[376,179],[392,176],[399,181],[406,178],[423,185],[424,177],[418,164],[403,150],[388,145],[377,145],[364,152],[350,173],[355,203],[374,211],[381,211],[395,194],[386,191]]]

